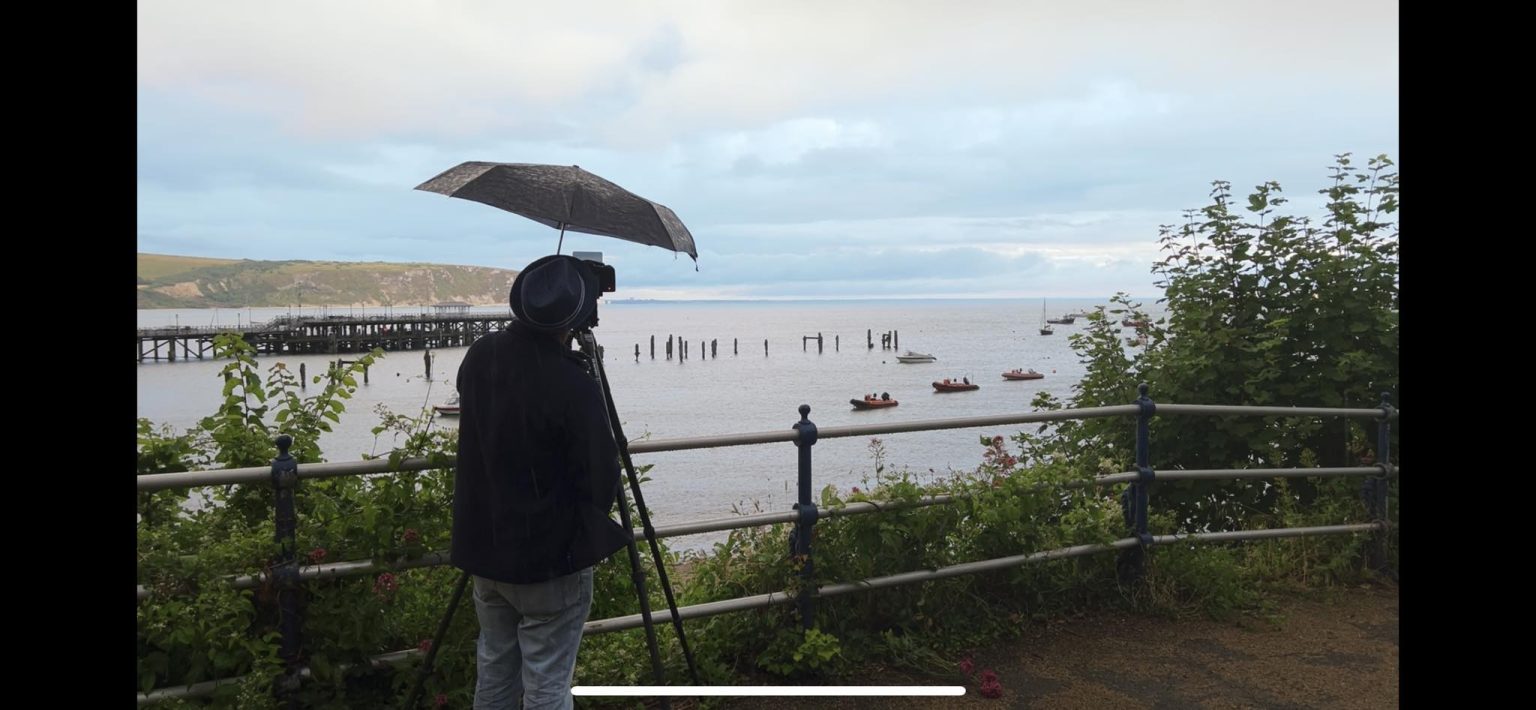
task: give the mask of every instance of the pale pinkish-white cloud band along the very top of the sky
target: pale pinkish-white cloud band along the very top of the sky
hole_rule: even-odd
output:
[[[565,124],[656,148],[868,103],[1029,103],[1106,77],[1175,94],[1395,91],[1396,23],[1384,0],[146,0],[138,83],[303,135]]]

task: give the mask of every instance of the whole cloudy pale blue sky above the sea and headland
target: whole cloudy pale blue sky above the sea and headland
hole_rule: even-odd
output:
[[[138,2],[138,250],[519,269],[558,232],[416,184],[579,164],[687,255],[630,298],[1155,297],[1158,226],[1398,160],[1398,3]]]

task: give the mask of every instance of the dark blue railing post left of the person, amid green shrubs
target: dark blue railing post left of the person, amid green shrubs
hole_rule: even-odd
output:
[[[298,615],[298,549],[296,530],[298,513],[293,510],[293,489],[298,487],[298,460],[289,455],[293,436],[276,438],[278,458],[272,460],[272,489],[276,493],[272,499],[275,509],[273,523],[276,532],[273,541],[278,544],[278,556],[272,561],[270,579],[278,590],[278,633],[283,641],[278,645],[278,656],[286,665],[286,672],[278,679],[278,699],[293,702],[292,693],[298,690],[300,670],[300,615]]]

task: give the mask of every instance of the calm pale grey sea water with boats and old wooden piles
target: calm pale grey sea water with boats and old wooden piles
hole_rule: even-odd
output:
[[[1049,315],[1087,310],[1094,300],[1051,300]],[[1037,392],[1069,396],[1083,375],[1068,337],[1084,321],[1055,326],[1055,335],[1038,335],[1041,303],[1035,301],[802,301],[802,303],[611,303],[601,307],[594,329],[605,346],[605,367],[613,400],[631,440],[679,438],[717,433],[785,430],[799,421],[797,407],[811,406],[817,426],[911,421],[1028,412]],[[476,309],[501,312],[499,307]],[[289,309],[140,310],[138,324],[207,326],[267,320]],[[319,309],[304,309],[319,314]],[[329,309],[361,314],[361,309]],[[415,312],[415,309],[395,309]],[[1154,315],[1158,309],[1152,310]],[[382,309],[369,309],[382,315]],[[865,347],[872,329],[876,347]],[[934,353],[938,361],[900,364],[894,350],[882,350],[879,337],[899,330],[902,350]],[[800,337],[825,337],[816,352],[811,341],[802,350]],[[1129,332],[1129,330],[1127,330]],[[667,335],[687,338],[690,360],[665,360]],[[650,337],[656,335],[656,360]],[[834,337],[840,347],[834,347]],[[719,341],[719,357],[702,358],[700,341]],[[739,338],[740,353],[731,353]],[[763,355],[768,340],[768,355]],[[634,360],[634,346],[641,360]],[[432,380],[424,377],[422,352],[392,352],[375,364],[370,384],[347,403],[336,430],[321,440],[329,461],[352,461],[362,453],[392,447],[369,430],[378,424],[375,407],[416,412],[442,403],[453,393],[453,377],[464,347],[433,350]],[[263,370],[284,361],[293,370],[306,363],[309,373],[323,372],[335,355],[264,357]],[[138,416],[184,429],[210,415],[220,401],[221,361],[144,363],[138,366]],[[1005,381],[1000,373],[1034,367],[1044,380]],[[969,377],[980,390],[935,393],[934,380]],[[313,386],[310,387],[313,392]],[[865,392],[889,392],[900,406],[856,412],[848,400]],[[436,418],[433,426],[456,426]],[[923,476],[948,470],[971,470],[982,460],[978,435],[1011,435],[1018,427],[957,429],[882,436],[888,466],[906,467]],[[387,436],[387,435],[386,435]],[[816,487],[860,486],[872,472],[868,438],[823,440],[816,444]],[[786,510],[794,503],[796,447],[790,443],[739,446],[636,456],[651,463],[645,501],[656,524],[728,516],[733,506],[745,510]],[[931,473],[929,473],[931,472]],[[679,547],[707,546],[720,535],[679,539]]]

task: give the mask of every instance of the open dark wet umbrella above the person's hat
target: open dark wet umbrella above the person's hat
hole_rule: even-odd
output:
[[[579,166],[461,163],[416,186],[519,214],[561,231],[614,237],[693,257],[693,235],[677,214]],[[559,247],[556,247],[559,252]]]

